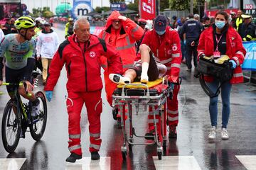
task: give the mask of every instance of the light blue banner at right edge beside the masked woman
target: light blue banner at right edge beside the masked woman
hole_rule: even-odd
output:
[[[245,61],[242,63],[242,69],[256,71],[256,42],[242,42],[245,47]]]

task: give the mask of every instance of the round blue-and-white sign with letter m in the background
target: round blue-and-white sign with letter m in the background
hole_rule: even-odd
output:
[[[91,0],[73,0],[72,17],[75,19],[86,16],[92,11]]]

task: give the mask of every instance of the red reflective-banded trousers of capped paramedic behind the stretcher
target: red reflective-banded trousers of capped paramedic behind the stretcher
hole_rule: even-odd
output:
[[[167,119],[169,125],[178,125],[178,91],[180,85],[174,85],[173,98],[167,99]],[[153,109],[149,107],[149,131],[154,130]],[[159,113],[156,113],[156,123],[158,123]]]

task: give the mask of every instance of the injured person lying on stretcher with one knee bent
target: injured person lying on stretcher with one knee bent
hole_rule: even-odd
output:
[[[155,81],[163,77],[167,72],[164,64],[156,61],[153,53],[147,45],[139,47],[141,60],[134,62],[134,66],[124,72],[124,76],[120,74],[110,74],[110,80],[116,84],[130,84],[134,81],[140,81],[146,84],[148,81]]]

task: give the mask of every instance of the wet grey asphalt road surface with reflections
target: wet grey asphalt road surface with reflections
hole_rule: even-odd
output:
[[[63,30],[55,28],[55,31],[60,37],[64,35]],[[193,156],[201,169],[245,169],[235,155],[256,154],[256,91],[247,91],[254,87],[250,84],[233,86],[228,124],[229,140],[221,140],[220,137],[221,101],[219,101],[217,138],[209,141],[209,99],[201,89],[198,79],[193,78],[192,74],[186,72],[186,67],[182,66],[183,81],[178,96],[178,137],[176,140],[169,140],[165,155]],[[63,70],[53,91],[53,100],[48,102],[48,122],[41,141],[35,142],[27,132],[26,138],[21,139],[18,143],[16,151],[13,154],[8,154],[0,140],[0,159],[26,158],[21,169],[66,169],[65,159],[70,153],[68,151],[68,114],[65,109],[67,94],[65,82],[65,70]],[[43,86],[40,84],[38,89],[43,89]],[[4,92],[0,96],[1,120],[9,96],[4,86],[0,86],[0,91]],[[101,118],[102,147],[100,155],[111,157],[111,169],[156,169],[152,159],[152,156],[156,156],[156,146],[134,146],[133,152],[128,152],[127,161],[122,161],[122,130],[117,128],[112,119],[112,110],[107,103],[104,90],[102,90],[102,99],[104,105]],[[134,125],[141,134],[146,132],[146,118],[147,115],[142,112],[137,117],[134,116]],[[82,109],[81,128],[83,157],[90,157],[85,108]]]

